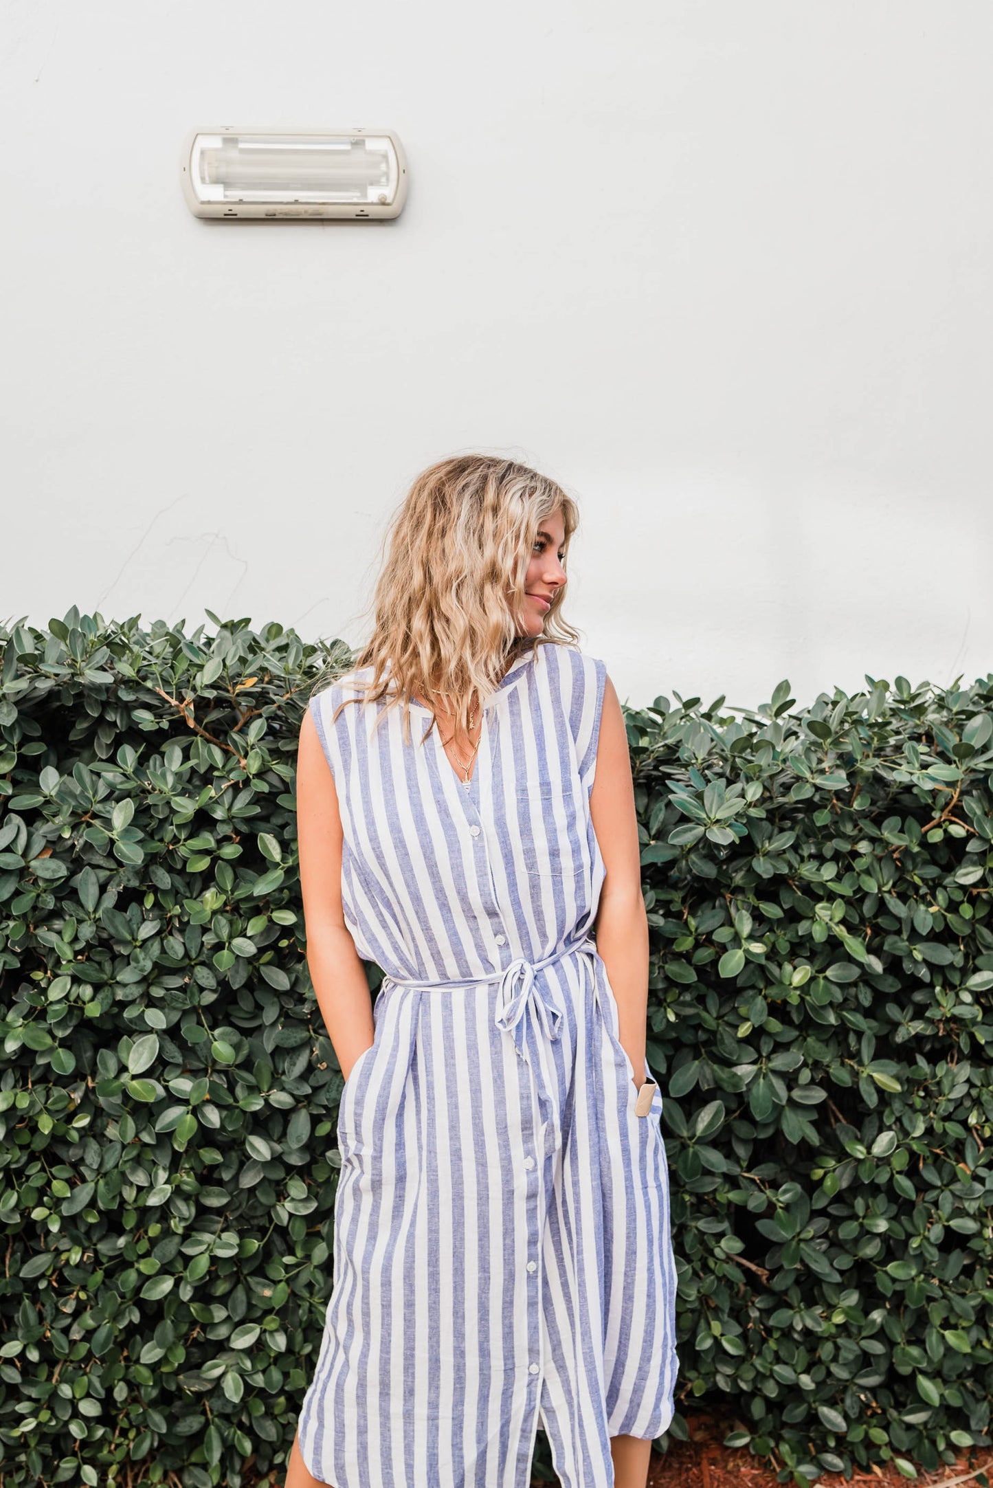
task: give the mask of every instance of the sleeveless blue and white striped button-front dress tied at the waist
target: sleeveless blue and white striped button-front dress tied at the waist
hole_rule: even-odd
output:
[[[354,676],[354,674],[353,674]],[[655,1088],[590,930],[606,671],[542,641],[482,714],[469,784],[411,708],[311,698],[341,894],[380,966],[338,1116],[333,1289],[298,1440],[335,1488],[613,1484],[610,1436],[673,1417],[676,1268]],[[648,1073],[648,1064],[646,1064]]]

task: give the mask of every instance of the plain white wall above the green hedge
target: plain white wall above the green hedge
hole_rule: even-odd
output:
[[[4,0],[0,615],[362,638],[485,448],[622,698],[993,668],[986,0]],[[387,225],[194,219],[194,125],[395,128]]]

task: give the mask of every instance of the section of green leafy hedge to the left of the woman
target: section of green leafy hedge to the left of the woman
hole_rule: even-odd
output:
[[[103,1488],[130,1458],[141,1482],[240,1488],[252,1454],[259,1472],[289,1454],[341,1088],[304,960],[293,769],[336,652],[76,612],[6,638],[4,1484]]]

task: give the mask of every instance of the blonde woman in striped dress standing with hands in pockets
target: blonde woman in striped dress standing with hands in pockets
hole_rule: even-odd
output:
[[[645,1488],[673,1415],[634,793],[561,620],[575,527],[512,461],[426,470],[372,640],[304,720],[307,958],[345,1085],[286,1488],[526,1488],[539,1424],[569,1488]]]

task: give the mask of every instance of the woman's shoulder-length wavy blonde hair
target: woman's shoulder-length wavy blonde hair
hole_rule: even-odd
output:
[[[430,707],[433,693],[447,693],[467,731],[473,692],[482,707],[527,649],[576,644],[579,632],[561,618],[564,586],[542,632],[521,634],[531,549],[555,510],[563,513],[566,567],[579,513],[555,481],[493,455],[453,455],[423,470],[383,539],[372,635],[345,674],[359,696],[344,699],[335,717],[344,702],[386,698],[381,717],[402,707],[409,743],[411,702]],[[371,676],[353,680],[351,671],[366,667]]]

